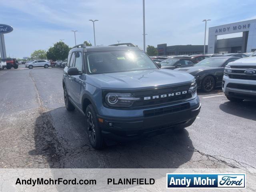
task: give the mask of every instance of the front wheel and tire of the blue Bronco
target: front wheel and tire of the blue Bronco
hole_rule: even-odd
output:
[[[103,136],[97,121],[96,113],[92,104],[88,105],[85,112],[86,131],[90,144],[95,149],[102,149],[104,146]]]

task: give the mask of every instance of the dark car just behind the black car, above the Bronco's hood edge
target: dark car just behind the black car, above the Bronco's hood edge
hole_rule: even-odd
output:
[[[195,62],[191,58],[187,57],[176,57],[176,58],[168,58],[160,62],[161,68],[164,69],[175,69],[180,67],[190,67],[194,66]]]

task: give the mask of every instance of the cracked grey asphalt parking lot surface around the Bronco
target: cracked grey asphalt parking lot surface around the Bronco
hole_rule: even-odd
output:
[[[198,92],[192,126],[94,150],[64,106],[61,68],[0,70],[0,168],[256,168],[256,103]]]

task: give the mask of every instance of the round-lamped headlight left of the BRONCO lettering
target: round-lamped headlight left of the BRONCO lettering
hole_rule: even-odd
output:
[[[129,107],[135,101],[140,100],[131,93],[108,93],[105,96],[105,102],[108,106],[113,107]]]

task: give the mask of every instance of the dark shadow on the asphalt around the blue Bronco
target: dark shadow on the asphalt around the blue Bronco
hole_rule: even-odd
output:
[[[50,168],[178,168],[194,153],[187,130],[95,150],[83,115],[64,107],[42,112],[34,129],[35,150],[30,154],[45,156]]]

